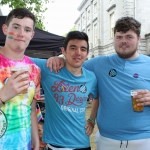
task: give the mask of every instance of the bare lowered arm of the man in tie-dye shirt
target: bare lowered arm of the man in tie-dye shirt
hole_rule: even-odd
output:
[[[31,137],[33,150],[39,150],[39,134],[38,134],[38,122],[36,114],[36,101],[33,100],[31,106]]]

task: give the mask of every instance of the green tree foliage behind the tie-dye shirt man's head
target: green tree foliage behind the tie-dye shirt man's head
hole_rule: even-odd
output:
[[[11,9],[28,8],[36,17],[36,27],[45,30],[43,13],[47,10],[46,4],[49,2],[53,0],[0,0],[0,5],[8,5]]]

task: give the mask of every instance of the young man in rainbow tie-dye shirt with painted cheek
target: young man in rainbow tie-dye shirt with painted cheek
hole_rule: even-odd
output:
[[[12,10],[2,26],[6,41],[0,48],[0,150],[39,150],[35,99],[40,97],[40,69],[24,55],[34,27],[35,17],[25,8]],[[11,73],[22,66],[28,72]]]

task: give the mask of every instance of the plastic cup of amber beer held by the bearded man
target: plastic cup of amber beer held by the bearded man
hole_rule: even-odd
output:
[[[137,95],[138,91],[141,90],[131,90],[132,107],[134,111],[141,112],[144,110],[144,106],[137,106],[136,99],[133,98],[133,96]]]

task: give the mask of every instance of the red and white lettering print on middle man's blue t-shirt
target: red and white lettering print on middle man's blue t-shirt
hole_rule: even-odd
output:
[[[88,98],[86,83],[71,85],[71,83],[66,83],[65,81],[55,81],[51,91],[54,93],[54,99],[62,111],[85,112]]]

